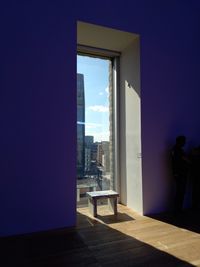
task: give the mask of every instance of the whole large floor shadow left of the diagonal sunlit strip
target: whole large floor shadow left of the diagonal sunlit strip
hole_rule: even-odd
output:
[[[0,239],[0,266],[26,267],[191,267],[99,221],[77,215],[77,229]]]

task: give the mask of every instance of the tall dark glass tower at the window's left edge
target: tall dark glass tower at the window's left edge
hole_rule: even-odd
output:
[[[84,178],[85,169],[85,95],[84,76],[77,73],[77,178]]]

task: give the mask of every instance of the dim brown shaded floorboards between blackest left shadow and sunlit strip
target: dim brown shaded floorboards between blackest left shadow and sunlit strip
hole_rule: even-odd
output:
[[[77,231],[99,266],[194,266],[79,212],[77,217]]]

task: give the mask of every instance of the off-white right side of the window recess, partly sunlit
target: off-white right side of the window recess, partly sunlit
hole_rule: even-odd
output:
[[[122,51],[120,61],[121,202],[143,212],[141,172],[139,37]]]

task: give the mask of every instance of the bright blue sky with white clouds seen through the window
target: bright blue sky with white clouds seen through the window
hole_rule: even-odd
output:
[[[85,135],[109,141],[109,60],[78,55],[77,73],[84,75]]]

